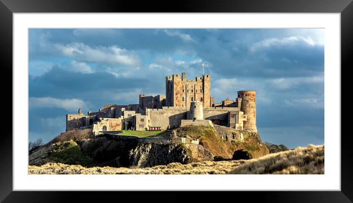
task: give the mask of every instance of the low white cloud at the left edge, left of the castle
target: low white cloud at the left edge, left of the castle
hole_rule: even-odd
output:
[[[79,99],[57,99],[52,97],[30,98],[30,108],[62,108],[68,111],[87,109],[90,104]]]

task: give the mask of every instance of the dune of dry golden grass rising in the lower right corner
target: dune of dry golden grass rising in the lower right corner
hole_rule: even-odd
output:
[[[229,174],[324,174],[324,145],[309,145],[248,160]]]

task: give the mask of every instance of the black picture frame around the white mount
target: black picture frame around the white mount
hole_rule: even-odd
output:
[[[353,53],[353,2],[352,0],[193,0],[193,1],[128,1],[128,0],[0,0],[0,56],[2,75],[2,113],[6,121],[12,120],[13,101],[9,88],[12,84],[12,20],[13,13],[57,13],[57,12],[274,12],[274,13],[341,13],[341,75],[342,69],[349,68]],[[338,67],[340,68],[340,67]],[[7,80],[7,81],[5,81]],[[342,81],[342,79],[341,79]],[[342,92],[342,91],[341,91]],[[341,98],[337,100],[341,102]],[[342,104],[341,104],[342,105]],[[341,105],[337,110],[341,112]],[[11,108],[10,108],[11,106]],[[338,119],[338,118],[336,118]],[[344,121],[343,119],[341,120]],[[344,121],[348,122],[348,121]],[[341,124],[342,126],[342,124]],[[352,150],[351,136],[337,131],[341,136],[341,191],[288,191],[288,192],[227,192],[226,194],[209,192],[30,192],[12,191],[12,128],[2,131],[0,140],[0,201],[3,202],[67,202],[79,197],[80,202],[102,202],[108,198],[128,202],[180,202],[204,201],[224,198],[261,202],[352,202]],[[43,183],[45,184],[45,183]],[[187,184],[187,183],[186,183]],[[79,190],[79,188],[77,188]],[[185,193],[185,194],[184,194]],[[191,196],[188,196],[191,194]],[[186,196],[188,196],[186,198]]]

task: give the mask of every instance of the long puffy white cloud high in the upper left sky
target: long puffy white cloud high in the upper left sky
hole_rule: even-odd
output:
[[[76,61],[122,64],[126,66],[136,66],[140,64],[139,57],[126,49],[116,45],[91,47],[83,43],[55,44],[64,56],[70,57]]]

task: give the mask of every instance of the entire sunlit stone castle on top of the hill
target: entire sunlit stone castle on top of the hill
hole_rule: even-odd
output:
[[[166,96],[139,96],[138,104],[105,104],[87,115],[66,115],[66,131],[92,129],[95,135],[109,131],[167,130],[187,125],[213,123],[237,130],[257,132],[256,92],[238,91],[235,101],[215,103],[211,97],[211,75],[186,79],[183,72],[166,77]]]

